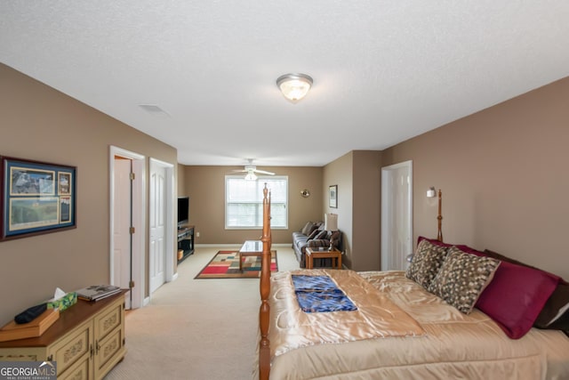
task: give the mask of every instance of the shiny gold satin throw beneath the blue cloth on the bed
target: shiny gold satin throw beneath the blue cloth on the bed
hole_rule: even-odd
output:
[[[291,275],[330,276],[357,311],[304,312]],[[271,287],[271,355],[313,344],[339,344],[386,336],[420,336],[419,324],[355,271],[292,271],[273,275]]]

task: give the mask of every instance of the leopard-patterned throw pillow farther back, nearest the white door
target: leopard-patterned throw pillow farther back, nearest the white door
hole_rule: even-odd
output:
[[[426,239],[421,240],[411,265],[405,271],[405,277],[428,289],[445,261],[447,250],[448,247],[436,246]]]

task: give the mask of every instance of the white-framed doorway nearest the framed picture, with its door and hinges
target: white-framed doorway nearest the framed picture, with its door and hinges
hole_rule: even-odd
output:
[[[145,158],[114,146],[109,151],[111,285],[130,288],[127,309],[142,306],[145,295]],[[131,175],[132,174],[132,175]]]

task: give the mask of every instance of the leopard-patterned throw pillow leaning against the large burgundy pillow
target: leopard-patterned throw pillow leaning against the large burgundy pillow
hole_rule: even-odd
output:
[[[469,255],[458,247],[450,247],[445,263],[428,290],[469,314],[499,265],[500,261],[491,257]]]

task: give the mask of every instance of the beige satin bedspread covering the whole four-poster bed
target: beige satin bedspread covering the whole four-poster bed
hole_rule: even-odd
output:
[[[341,271],[346,274],[340,277],[335,271],[325,272],[359,303],[352,294],[356,289],[342,286],[341,279],[352,281],[355,272]],[[361,337],[371,331],[332,315],[337,313],[300,315],[290,286],[283,285],[286,275],[278,273],[271,285],[271,379],[569,379],[569,338],[563,333],[533,328],[521,339],[511,340],[483,312],[462,314],[405,279],[402,271],[360,273],[368,280],[363,293],[372,294],[368,286],[375,287],[381,290],[381,295],[373,295],[378,303],[398,306],[384,312],[396,319],[391,319],[394,332],[386,333],[389,318],[374,317],[365,311],[365,304],[357,304],[380,327],[381,337],[366,339]],[[314,344],[315,337],[321,344]]]

